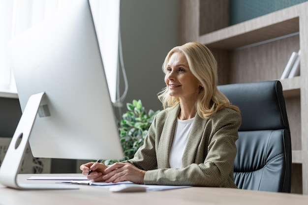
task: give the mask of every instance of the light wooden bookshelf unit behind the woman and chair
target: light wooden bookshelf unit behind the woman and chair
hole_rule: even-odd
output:
[[[300,76],[280,81],[292,139],[291,192],[308,194],[308,2],[233,26],[228,3],[181,0],[180,43],[198,41],[213,51],[220,85],[279,79],[301,49]]]

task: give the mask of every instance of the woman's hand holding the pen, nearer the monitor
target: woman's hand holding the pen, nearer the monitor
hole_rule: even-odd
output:
[[[86,164],[82,164],[80,166],[82,174],[87,176],[87,178],[90,179],[91,181],[104,181],[102,176],[106,174],[105,173],[106,168],[107,168],[106,165],[97,162],[89,162]],[[92,173],[88,175],[90,170],[92,170]]]

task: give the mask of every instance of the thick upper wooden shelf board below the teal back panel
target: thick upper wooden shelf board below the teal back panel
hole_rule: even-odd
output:
[[[296,6],[199,36],[209,48],[232,50],[299,32]]]

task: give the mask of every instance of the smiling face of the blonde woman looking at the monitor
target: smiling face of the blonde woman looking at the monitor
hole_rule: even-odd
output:
[[[170,57],[166,66],[165,83],[169,95],[179,97],[180,100],[195,101],[200,91],[200,82],[190,72],[188,62],[181,52]]]

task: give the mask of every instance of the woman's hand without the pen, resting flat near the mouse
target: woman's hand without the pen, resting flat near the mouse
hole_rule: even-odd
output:
[[[131,181],[137,184],[144,184],[146,171],[140,170],[129,163],[114,163],[104,170],[103,180],[117,183],[120,181]]]

